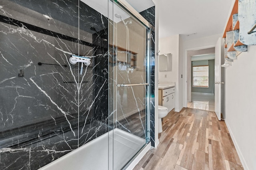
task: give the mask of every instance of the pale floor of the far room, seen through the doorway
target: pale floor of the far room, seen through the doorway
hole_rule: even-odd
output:
[[[192,102],[188,102],[187,107],[204,111],[214,111],[214,95],[191,95]]]

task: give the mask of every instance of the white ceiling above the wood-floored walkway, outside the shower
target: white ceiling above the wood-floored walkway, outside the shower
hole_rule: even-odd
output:
[[[159,0],[159,38],[222,34],[233,0]],[[187,34],[196,35],[186,36]]]

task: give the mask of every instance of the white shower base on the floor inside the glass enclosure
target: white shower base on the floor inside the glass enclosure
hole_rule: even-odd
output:
[[[118,170],[142,148],[144,143],[143,138],[115,128],[40,170],[108,170],[109,160],[109,169]],[[149,148],[150,146],[144,152],[146,153]],[[140,154],[140,157],[143,157],[143,154]]]

